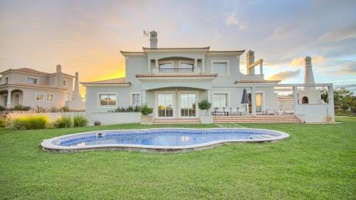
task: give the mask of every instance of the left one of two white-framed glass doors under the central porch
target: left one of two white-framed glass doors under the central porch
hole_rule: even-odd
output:
[[[158,110],[158,117],[172,118],[173,117],[173,94],[171,93],[157,94],[157,110]]]

